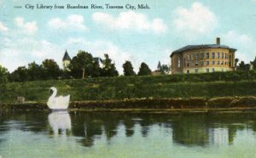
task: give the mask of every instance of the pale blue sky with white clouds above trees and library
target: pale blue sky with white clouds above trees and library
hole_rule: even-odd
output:
[[[66,8],[68,3],[89,8]],[[28,7],[37,4],[65,8]],[[32,61],[55,59],[61,66],[67,49],[71,58],[79,50],[101,58],[109,54],[121,74],[125,60],[135,71],[142,62],[154,71],[159,61],[171,65],[172,51],[213,44],[216,37],[248,63],[256,56],[255,8],[256,0],[0,0],[0,65],[15,71]]]

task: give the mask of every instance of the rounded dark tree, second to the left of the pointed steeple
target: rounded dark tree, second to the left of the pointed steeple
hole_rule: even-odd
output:
[[[27,75],[30,81],[40,80],[43,77],[43,68],[35,62],[28,64]]]

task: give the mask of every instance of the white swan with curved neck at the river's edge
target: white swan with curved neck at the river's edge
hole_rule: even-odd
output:
[[[55,87],[50,87],[49,91],[50,91],[50,93],[52,93],[47,102],[49,109],[51,109],[51,110],[67,110],[70,95],[67,95],[64,97],[63,96],[56,97],[57,89]]]

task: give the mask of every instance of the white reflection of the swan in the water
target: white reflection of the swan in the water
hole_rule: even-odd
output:
[[[69,135],[71,132],[71,119],[67,111],[53,111],[48,116],[49,126],[54,135]]]

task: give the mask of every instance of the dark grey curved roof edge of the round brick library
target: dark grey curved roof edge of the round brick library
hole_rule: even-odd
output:
[[[193,49],[201,49],[201,48],[227,48],[232,52],[236,52],[236,48],[230,48],[229,46],[225,45],[219,45],[219,44],[201,44],[201,45],[188,45],[183,48],[179,48],[172,52],[171,57],[173,54],[180,54],[187,50],[193,50]]]

